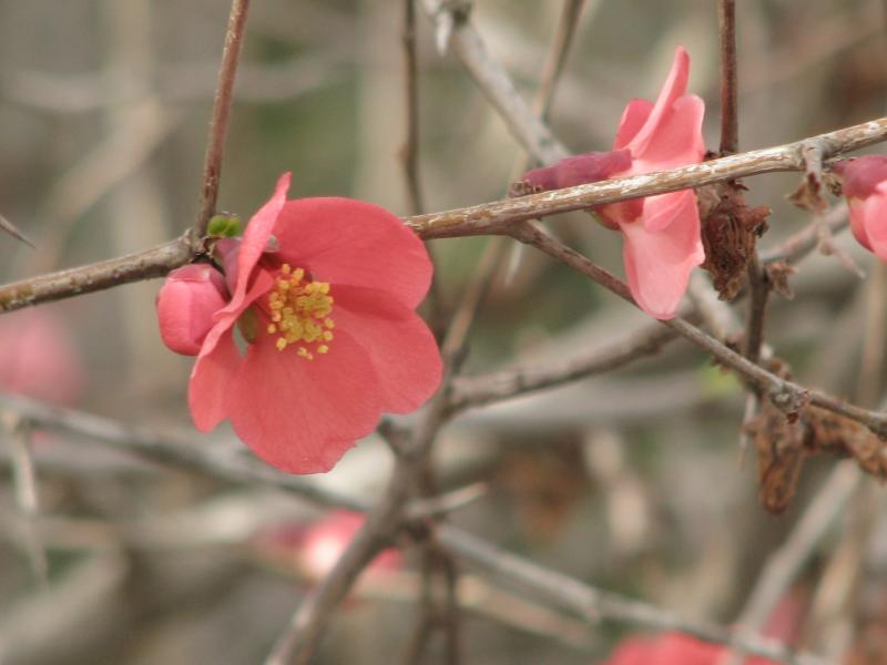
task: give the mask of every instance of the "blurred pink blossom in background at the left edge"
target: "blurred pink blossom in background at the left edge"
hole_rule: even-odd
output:
[[[0,316],[0,391],[71,405],[84,370],[65,321],[45,307]]]

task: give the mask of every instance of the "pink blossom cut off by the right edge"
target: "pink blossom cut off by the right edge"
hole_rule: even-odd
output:
[[[850,229],[863,247],[887,260],[887,156],[865,155],[835,164],[844,177]]]

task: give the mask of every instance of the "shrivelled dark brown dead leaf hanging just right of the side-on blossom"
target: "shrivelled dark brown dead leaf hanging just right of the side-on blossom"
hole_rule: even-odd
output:
[[[696,190],[702,217],[702,267],[722,300],[736,297],[745,280],[746,266],[755,253],[757,238],[767,229],[769,208],[748,207],[738,182],[717,183]]]

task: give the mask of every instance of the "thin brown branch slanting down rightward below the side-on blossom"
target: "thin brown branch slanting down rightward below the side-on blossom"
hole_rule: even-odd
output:
[[[516,237],[567,264],[574,270],[591,277],[594,282],[613,291],[619,297],[634,304],[625,283],[600,266],[597,266],[578,252],[552,238],[537,226],[521,227],[519,235]],[[671,320],[661,321],[661,324],[674,329],[679,335],[711,354],[718,364],[732,369],[753,389],[767,396],[782,411],[792,415],[796,413],[806,405],[814,405],[839,416],[845,416],[850,420],[855,420],[866,426],[879,437],[887,438],[887,413],[869,411],[846,403],[825,392],[807,389],[793,381],[777,377],[754,362],[751,362],[736,351],[727,348],[714,337],[703,332],[685,319],[673,318]]]

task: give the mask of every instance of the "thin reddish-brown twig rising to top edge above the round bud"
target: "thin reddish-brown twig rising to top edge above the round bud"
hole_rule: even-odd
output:
[[[222,156],[225,151],[234,75],[237,72],[248,10],[249,0],[234,0],[231,4],[225,47],[222,51],[222,64],[218,69],[218,86],[213,102],[213,117],[210,121],[210,140],[206,143],[206,156],[203,162],[200,209],[191,236],[194,247],[197,247],[203,236],[206,235],[206,225],[215,213],[215,204],[218,198],[218,180],[222,175]]]

